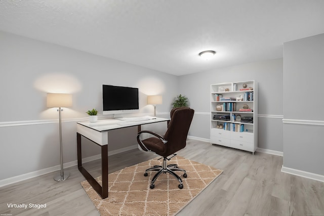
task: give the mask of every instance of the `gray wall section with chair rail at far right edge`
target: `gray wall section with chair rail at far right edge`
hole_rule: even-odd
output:
[[[324,175],[324,34],[284,44],[284,166]]]

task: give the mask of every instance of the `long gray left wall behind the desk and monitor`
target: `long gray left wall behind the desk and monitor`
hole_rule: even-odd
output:
[[[88,120],[92,108],[103,117],[102,84],[138,87],[142,114],[154,110],[146,95],[163,95],[160,116],[179,92],[177,76],[54,44],[0,31],[0,47],[0,180],[60,164],[58,112],[46,107],[48,92],[73,94],[73,107],[62,112],[64,162],[76,160],[75,122]],[[136,130],[111,132],[109,150],[136,144]]]

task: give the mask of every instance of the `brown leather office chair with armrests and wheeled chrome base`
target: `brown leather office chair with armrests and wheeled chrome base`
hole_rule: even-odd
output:
[[[144,176],[147,176],[148,171],[157,171],[151,181],[150,188],[153,189],[154,182],[157,177],[169,172],[179,182],[179,188],[183,188],[181,178],[174,171],[183,171],[183,177],[187,178],[187,173],[184,169],[178,167],[177,164],[167,165],[167,160],[174,157],[177,151],[186,146],[187,135],[189,127],[193,118],[194,110],[188,107],[173,108],[170,112],[171,120],[168,124],[167,132],[164,136],[160,136],[150,131],[140,131],[137,134],[137,142],[144,151],[153,152],[163,157],[163,166],[153,166],[145,170]],[[148,133],[154,137],[142,140],[141,135]],[[168,156],[172,155],[170,158]],[[160,158],[161,159],[161,158]]]

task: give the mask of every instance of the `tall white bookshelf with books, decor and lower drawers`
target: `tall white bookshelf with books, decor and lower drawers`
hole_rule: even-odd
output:
[[[258,147],[258,85],[254,80],[211,85],[210,140],[212,145],[254,154]]]

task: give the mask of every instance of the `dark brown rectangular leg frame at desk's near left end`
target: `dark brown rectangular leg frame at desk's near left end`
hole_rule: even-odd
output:
[[[101,196],[102,199],[108,197],[108,145],[101,147],[101,179],[102,186],[89,174],[89,172],[82,166],[82,148],[81,148],[81,136],[76,133],[77,144],[77,168],[86,178],[93,189]]]

